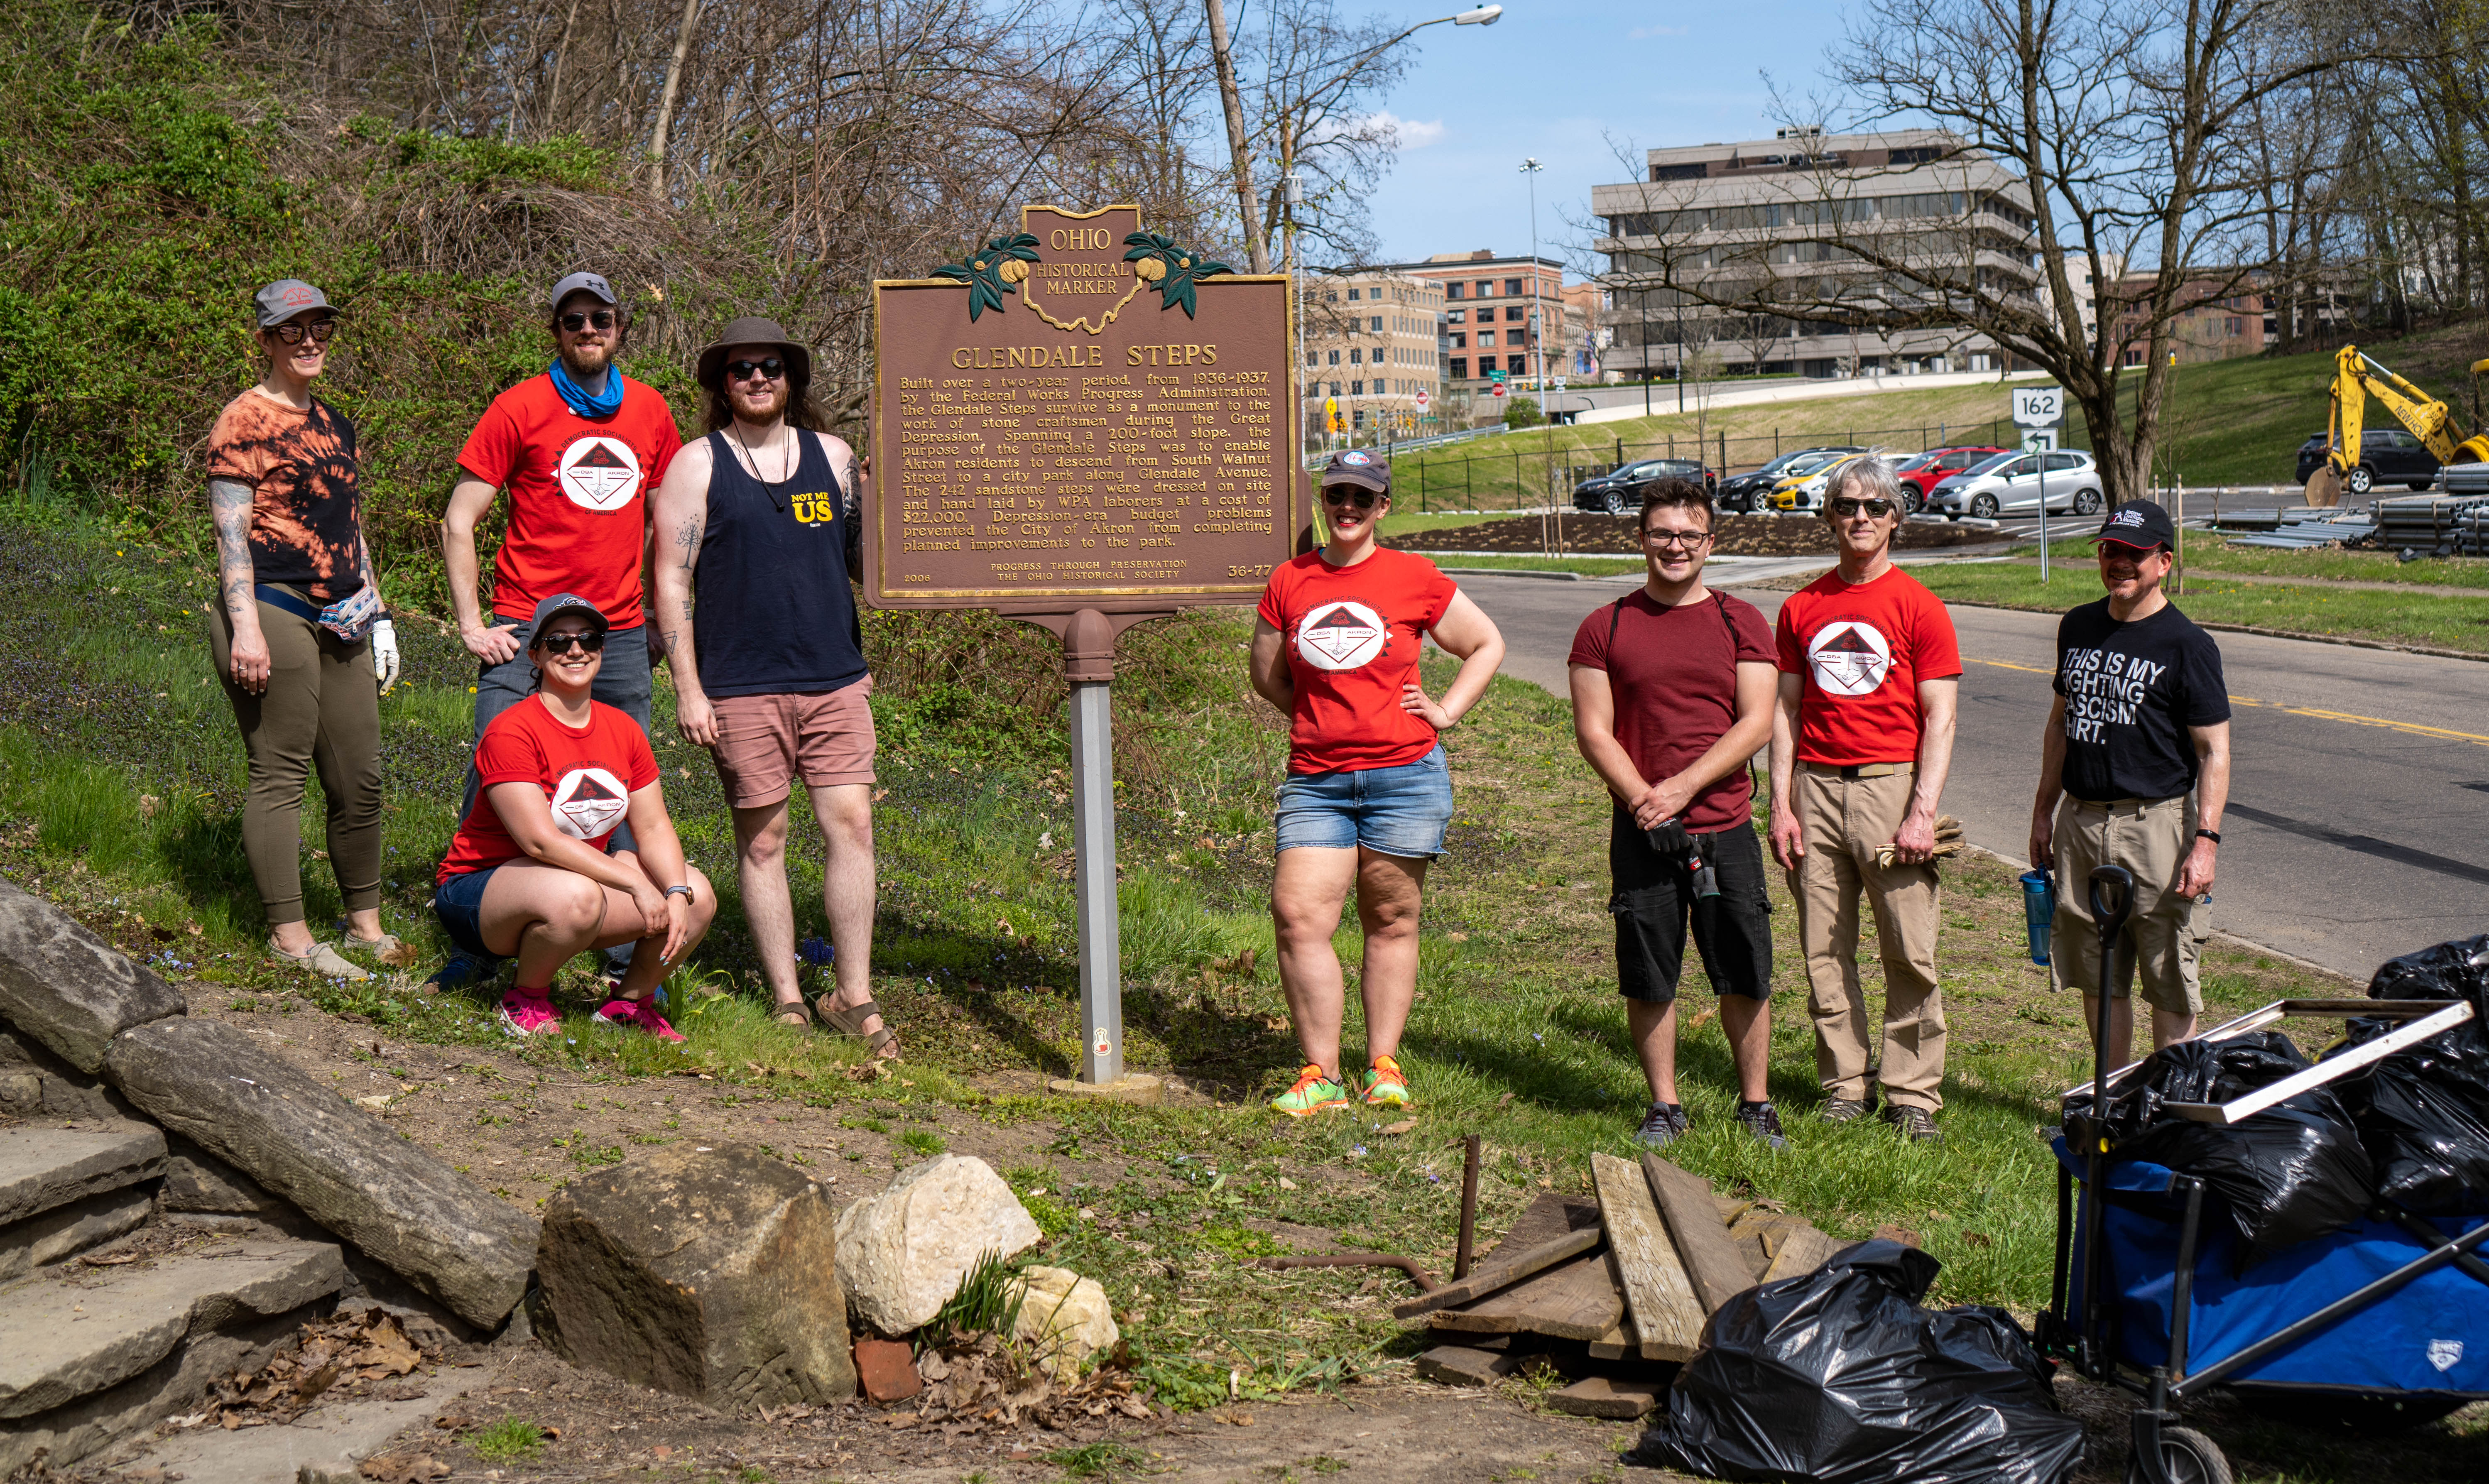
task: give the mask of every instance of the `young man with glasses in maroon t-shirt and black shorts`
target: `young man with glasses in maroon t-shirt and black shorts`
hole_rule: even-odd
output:
[[[1608,876],[1615,981],[1650,1081],[1635,1143],[1690,1125],[1678,1101],[1678,974],[1693,924],[1737,1061],[1737,1123],[1787,1140],[1765,1086],[1772,1046],[1772,899],[1747,762],[1772,740],[1772,630],[1752,603],[1702,585],[1710,495],[1663,481],[1643,495],[1640,593],[1573,635],[1573,740],[1615,799]]]

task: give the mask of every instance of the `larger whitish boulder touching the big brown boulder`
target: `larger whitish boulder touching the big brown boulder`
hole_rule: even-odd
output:
[[[951,1302],[978,1257],[1011,1257],[1043,1235],[993,1165],[943,1155],[839,1213],[839,1272],[864,1322],[906,1335]]]

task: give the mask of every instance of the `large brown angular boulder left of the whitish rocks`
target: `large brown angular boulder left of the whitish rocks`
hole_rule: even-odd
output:
[[[744,1143],[572,1180],[535,1255],[553,1342],[627,1382],[747,1407],[856,1394],[821,1188]]]

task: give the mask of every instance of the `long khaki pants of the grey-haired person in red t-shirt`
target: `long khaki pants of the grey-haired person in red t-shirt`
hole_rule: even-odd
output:
[[[1807,854],[1790,871],[1797,941],[1807,956],[1814,1073],[1827,1098],[1867,1101],[1867,996],[1859,991],[1859,894],[1874,909],[1884,959],[1884,1101],[1944,1106],[1944,996],[1936,991],[1936,866],[1879,866],[1909,814],[1912,774],[1842,779],[1797,764],[1797,822]]]

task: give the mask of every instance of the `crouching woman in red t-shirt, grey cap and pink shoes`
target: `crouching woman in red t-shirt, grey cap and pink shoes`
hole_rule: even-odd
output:
[[[518,984],[500,1001],[513,1036],[560,1033],[553,974],[565,961],[587,949],[657,944],[657,954],[632,954],[595,1018],[682,1041],[650,991],[699,946],[717,891],[682,859],[640,722],[587,700],[605,665],[605,630],[585,598],[558,593],[535,605],[528,660],[538,690],[475,744],[483,787],[441,862],[433,911],[458,949],[518,956]],[[607,854],[625,819],[640,849]]]

